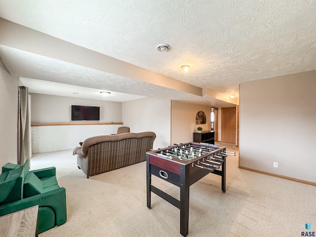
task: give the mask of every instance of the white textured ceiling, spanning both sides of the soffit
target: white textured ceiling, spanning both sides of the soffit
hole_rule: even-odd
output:
[[[0,0],[0,17],[27,32],[8,40],[10,30],[0,28],[0,57],[35,93],[102,99],[106,90],[113,101],[155,96],[227,107],[240,82],[316,70],[316,0]],[[26,40],[42,33],[51,37]],[[77,48],[62,47],[66,41]],[[160,43],[170,50],[158,52]],[[118,60],[126,64],[114,71]],[[201,92],[184,89],[190,85]]]

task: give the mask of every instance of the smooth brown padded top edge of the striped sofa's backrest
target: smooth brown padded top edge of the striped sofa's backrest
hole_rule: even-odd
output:
[[[153,142],[156,138],[156,134],[154,132],[139,132],[139,133],[129,132],[129,133],[122,133],[118,135],[103,135],[103,136],[89,137],[85,139],[84,142],[82,143],[81,152],[84,156],[87,156],[90,146],[96,145],[98,143],[122,141],[126,139],[131,139],[131,138],[140,139],[140,138],[145,138],[145,137],[150,137],[150,140],[152,140],[151,146],[153,146]]]

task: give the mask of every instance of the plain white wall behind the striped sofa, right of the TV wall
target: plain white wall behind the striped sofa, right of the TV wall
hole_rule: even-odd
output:
[[[131,132],[156,133],[153,149],[170,146],[170,100],[142,98],[122,103],[122,120]]]

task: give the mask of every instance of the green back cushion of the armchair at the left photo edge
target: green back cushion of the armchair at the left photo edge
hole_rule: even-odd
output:
[[[0,204],[23,198],[24,166],[0,174]]]

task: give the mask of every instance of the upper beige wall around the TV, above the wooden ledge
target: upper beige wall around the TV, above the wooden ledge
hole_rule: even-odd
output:
[[[100,122],[121,122],[120,102],[31,94],[31,123],[71,122],[71,106],[99,106]]]

